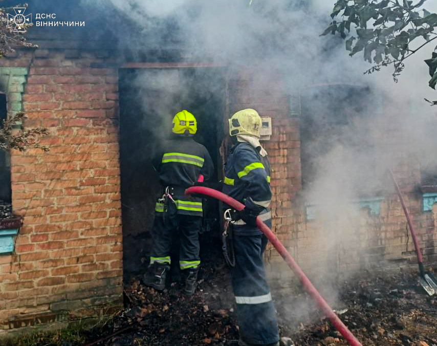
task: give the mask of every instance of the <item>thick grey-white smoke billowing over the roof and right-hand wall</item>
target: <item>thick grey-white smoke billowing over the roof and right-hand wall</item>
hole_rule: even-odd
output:
[[[107,15],[114,15],[115,10],[135,23],[135,30],[114,28],[120,48],[134,57],[144,49],[182,49],[186,60],[235,68],[257,65],[260,68],[253,83],[263,85],[279,71],[289,93],[300,94],[305,102],[301,122],[307,126],[302,129],[302,134],[307,133],[302,137],[302,143],[307,143],[302,150],[308,154],[302,156],[302,168],[307,169],[302,179],[311,178],[304,184],[304,203],[317,207],[317,221],[304,226],[312,232],[314,254],[313,262],[304,265],[307,269],[316,261],[319,273],[332,275],[346,267],[355,268],[357,261],[358,270],[357,256],[366,241],[360,234],[366,225],[362,225],[360,204],[351,201],[391,191],[387,168],[408,174],[408,169],[398,169],[408,166],[411,175],[418,175],[418,167],[432,174],[437,166],[436,114],[423,101],[437,99],[427,86],[428,68],[423,62],[432,48],[426,47],[406,61],[398,83],[392,81],[391,67],[363,75],[370,65],[360,53],[349,57],[342,39],[319,36],[330,23],[334,0],[253,0],[251,6],[249,0],[81,3],[98,5]],[[435,2],[425,4],[428,11],[437,12]],[[171,61],[172,57],[164,58]],[[195,89],[193,97],[194,85],[202,77],[208,82]],[[133,84],[139,95],[150,89],[156,95],[154,101],[144,98],[139,111],[150,113],[152,109],[165,127],[177,108],[184,108],[191,99],[208,100],[211,94],[223,93],[222,78],[222,72],[205,71],[195,76],[176,71],[138,74]],[[331,86],[314,87],[323,84]],[[148,118],[143,121],[143,126],[149,126]],[[318,136],[312,136],[314,133]],[[311,162],[305,163],[308,158]],[[298,262],[305,258],[305,251],[296,253]],[[335,297],[336,290],[332,288],[328,295]]]

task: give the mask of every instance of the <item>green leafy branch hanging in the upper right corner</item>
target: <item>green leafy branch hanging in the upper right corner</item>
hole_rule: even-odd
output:
[[[353,34],[346,40],[349,55],[364,51],[364,59],[374,63],[365,73],[393,64],[397,81],[404,61],[437,38],[437,14],[424,8],[426,1],[338,0],[331,17],[340,20],[333,20],[322,35],[331,33],[346,39]],[[426,62],[432,77],[429,86],[435,89],[437,55],[433,53]]]

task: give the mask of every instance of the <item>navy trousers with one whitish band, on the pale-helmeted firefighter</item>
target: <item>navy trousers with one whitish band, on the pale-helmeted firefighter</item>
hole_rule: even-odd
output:
[[[278,323],[263,264],[267,237],[249,226],[233,229],[235,267],[231,276],[240,337],[248,344],[275,343]]]

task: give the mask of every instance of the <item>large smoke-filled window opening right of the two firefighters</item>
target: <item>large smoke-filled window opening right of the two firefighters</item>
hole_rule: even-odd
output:
[[[344,167],[343,170],[350,168],[354,176],[363,175],[363,179],[356,178],[356,182],[375,180],[373,176],[366,176],[374,174],[365,166],[372,165],[372,153],[375,151],[375,144],[366,132],[372,124],[372,117],[381,112],[378,98],[365,86],[333,84],[302,89],[302,187],[310,189],[324,172],[340,169],[338,167],[345,163],[351,167]],[[355,157],[360,158],[356,167]],[[361,194],[368,187],[363,184],[354,188]]]

